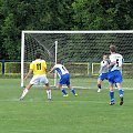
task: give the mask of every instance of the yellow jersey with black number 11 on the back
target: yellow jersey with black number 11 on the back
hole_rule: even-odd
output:
[[[47,74],[47,63],[44,60],[37,59],[30,63],[30,70],[33,71],[33,74]]]

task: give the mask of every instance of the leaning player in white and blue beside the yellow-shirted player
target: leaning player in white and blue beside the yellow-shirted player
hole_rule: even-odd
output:
[[[70,73],[66,68],[60,63],[60,61],[58,61],[58,63],[51,69],[50,73],[53,71],[57,71],[60,78],[58,88],[63,92],[63,96],[69,96],[68,92],[62,88],[63,84],[66,84],[73,95],[78,96],[75,90],[70,84]]]

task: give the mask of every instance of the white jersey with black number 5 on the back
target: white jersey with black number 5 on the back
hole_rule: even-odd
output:
[[[110,71],[114,71],[114,70],[120,70],[122,69],[122,64],[123,64],[123,57],[119,53],[112,53],[110,57],[110,62],[116,62],[113,66],[110,68]]]

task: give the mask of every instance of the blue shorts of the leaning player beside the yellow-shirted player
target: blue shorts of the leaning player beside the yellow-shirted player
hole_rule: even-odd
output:
[[[59,83],[69,85],[70,84],[70,74],[66,73],[66,74],[61,75]]]

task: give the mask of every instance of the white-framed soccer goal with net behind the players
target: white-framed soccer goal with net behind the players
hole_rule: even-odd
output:
[[[29,63],[34,60],[35,52],[40,52],[48,70],[57,59],[61,59],[75,88],[96,88],[100,61],[103,52],[110,54],[110,44],[115,44],[117,52],[124,57],[122,73],[125,79],[132,80],[133,31],[22,31],[21,86]],[[48,79],[50,84],[57,84],[55,74],[48,74]],[[126,84],[126,88],[131,85]]]

